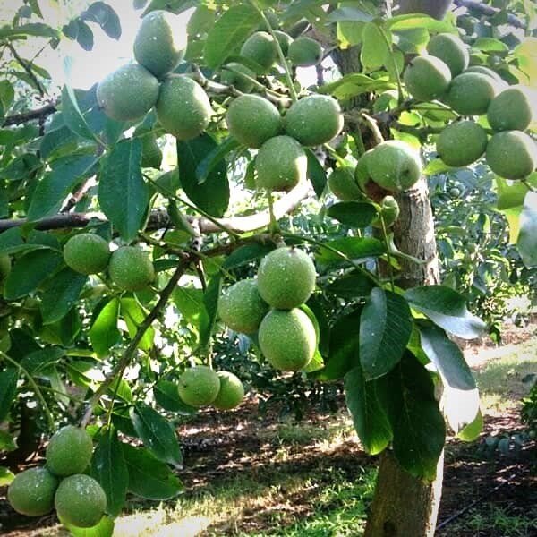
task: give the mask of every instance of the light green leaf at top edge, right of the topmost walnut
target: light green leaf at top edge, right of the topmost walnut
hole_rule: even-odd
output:
[[[205,63],[216,69],[260,24],[260,14],[248,4],[234,5],[209,31],[203,48]]]

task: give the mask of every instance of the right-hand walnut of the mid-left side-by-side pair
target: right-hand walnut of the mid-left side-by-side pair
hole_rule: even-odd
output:
[[[155,279],[155,268],[147,252],[136,246],[122,246],[112,252],[108,274],[124,291],[141,291]]]

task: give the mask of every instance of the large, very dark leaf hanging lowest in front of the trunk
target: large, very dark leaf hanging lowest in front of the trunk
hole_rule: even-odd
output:
[[[446,440],[446,424],[434,396],[429,373],[410,354],[393,370],[389,381],[389,420],[397,461],[414,477],[433,480]]]

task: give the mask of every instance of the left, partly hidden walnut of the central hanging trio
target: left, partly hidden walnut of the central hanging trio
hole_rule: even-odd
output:
[[[218,303],[220,318],[235,332],[251,334],[260,328],[268,311],[254,279],[244,279],[228,287]]]

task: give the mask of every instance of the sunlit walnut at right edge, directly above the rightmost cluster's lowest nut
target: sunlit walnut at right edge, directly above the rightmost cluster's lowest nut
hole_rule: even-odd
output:
[[[530,91],[516,86],[492,99],[487,119],[495,131],[525,131],[532,123],[535,106]]]

